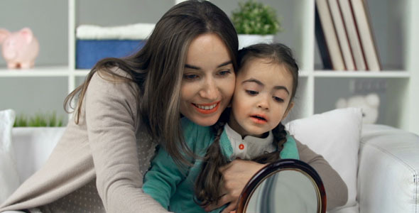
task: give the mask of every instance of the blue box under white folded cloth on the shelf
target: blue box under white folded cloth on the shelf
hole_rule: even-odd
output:
[[[134,54],[145,43],[145,40],[77,40],[76,69],[92,69],[103,58]]]

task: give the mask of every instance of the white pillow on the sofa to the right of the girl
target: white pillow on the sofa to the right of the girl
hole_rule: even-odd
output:
[[[348,202],[342,207],[342,210],[346,209],[343,212],[358,212],[357,170],[361,127],[360,108],[334,109],[285,125],[298,141],[322,155],[347,184]]]

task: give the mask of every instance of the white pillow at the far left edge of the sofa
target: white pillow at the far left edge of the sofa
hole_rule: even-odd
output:
[[[14,119],[13,110],[0,111],[0,204],[20,185],[11,143]]]

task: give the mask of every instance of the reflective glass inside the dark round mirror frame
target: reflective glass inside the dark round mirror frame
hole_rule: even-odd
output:
[[[300,170],[281,170],[261,181],[248,202],[246,213],[315,213],[317,190]]]

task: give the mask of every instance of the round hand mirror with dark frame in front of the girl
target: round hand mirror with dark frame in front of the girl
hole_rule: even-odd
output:
[[[300,160],[284,159],[259,170],[244,187],[237,213],[325,213],[325,187]]]

